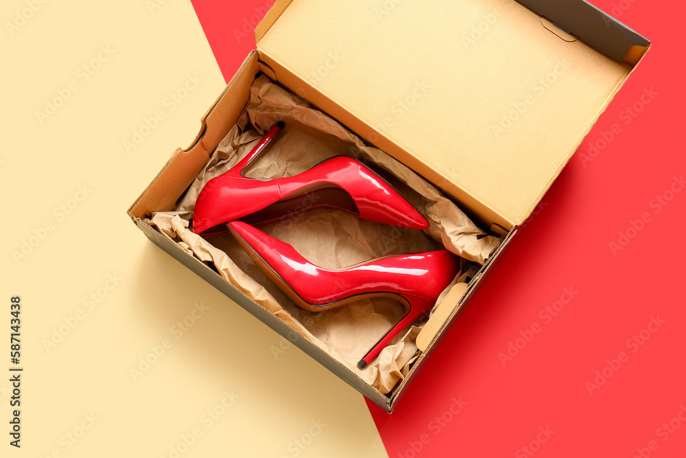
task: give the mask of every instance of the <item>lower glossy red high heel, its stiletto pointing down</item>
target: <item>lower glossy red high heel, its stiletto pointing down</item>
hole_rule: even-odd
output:
[[[329,310],[363,297],[392,297],[403,304],[405,315],[359,360],[359,367],[371,363],[399,332],[429,312],[460,272],[458,257],[447,250],[379,257],[331,271],[246,222],[227,224],[255,264],[305,310]]]

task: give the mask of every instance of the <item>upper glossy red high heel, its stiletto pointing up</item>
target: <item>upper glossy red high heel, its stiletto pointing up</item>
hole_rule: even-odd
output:
[[[340,208],[360,218],[394,226],[429,227],[427,220],[390,184],[351,157],[332,157],[305,172],[285,178],[259,180],[243,176],[244,168],[281,128],[282,122],[272,126],[246,157],[204,185],[193,211],[193,232],[201,233],[222,222],[248,215],[251,215],[251,222],[264,222],[316,207]],[[274,216],[274,209],[283,211],[289,201],[313,192],[318,194],[311,205]],[[265,210],[274,203],[277,203],[274,209]]]

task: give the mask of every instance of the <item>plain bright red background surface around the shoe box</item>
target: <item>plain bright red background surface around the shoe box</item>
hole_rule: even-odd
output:
[[[254,47],[252,28],[270,3],[193,0],[226,80]],[[652,49],[397,410],[368,402],[393,458],[686,456],[686,422],[677,416],[686,406],[686,190],[668,192],[686,174],[678,23],[686,8],[593,3],[650,38]],[[631,115],[632,106],[640,113]],[[653,200],[665,192],[667,205]],[[620,231],[632,237],[613,253]],[[578,294],[556,316],[541,314],[565,288]],[[664,323],[641,336],[651,317]],[[525,332],[532,325],[540,332]],[[517,341],[523,348],[503,364],[499,354],[521,332],[530,341]],[[635,335],[641,345],[628,342]],[[623,361],[612,361],[620,352]],[[603,369],[609,377],[590,394],[587,382]],[[466,403],[459,413],[455,400]],[[539,435],[546,428],[549,437]]]

